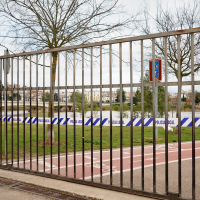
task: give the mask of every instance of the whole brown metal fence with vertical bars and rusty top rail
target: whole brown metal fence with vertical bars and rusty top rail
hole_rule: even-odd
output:
[[[195,129],[195,86],[200,85],[200,81],[195,81],[195,69],[196,58],[198,55],[194,53],[194,40],[195,34],[198,35],[200,28],[188,29],[182,31],[173,31],[167,33],[159,33],[145,36],[137,36],[130,38],[123,38],[117,40],[103,41],[90,44],[75,45],[70,47],[62,47],[50,50],[41,50],[35,52],[25,52],[15,55],[5,55],[1,56],[0,62],[0,167],[9,168],[13,170],[20,170],[22,172],[30,172],[38,174],[41,176],[62,179],[66,181],[76,182],[80,184],[87,184],[95,187],[101,187],[111,190],[117,190],[121,192],[133,193],[138,195],[168,198],[168,199],[198,199],[199,195],[197,192],[195,166],[197,158],[195,159],[195,131],[198,131],[198,127]],[[190,48],[190,70],[191,70],[191,80],[182,81],[181,79],[181,48],[182,48],[182,38],[189,36],[189,48]],[[177,46],[177,77],[178,81],[170,82],[168,80],[168,56],[169,53],[169,42],[168,39],[174,37],[177,42],[174,43]],[[153,66],[155,65],[155,59],[158,52],[156,44],[158,39],[163,42],[163,66],[162,70],[164,73],[164,80],[161,82],[155,81],[155,76],[153,77],[153,82],[144,82],[144,69],[146,66],[147,54],[150,55],[150,59],[153,60]],[[148,47],[150,46],[150,51],[146,50],[149,48],[144,47],[144,42],[148,41]],[[139,60],[139,73],[141,76],[141,81],[135,82],[136,79],[133,78],[135,60],[133,60],[133,50],[138,49],[138,45],[134,42],[138,42],[139,54],[137,59]],[[126,69],[129,70],[128,83],[122,80],[123,76],[123,65],[125,62],[123,60],[123,47],[122,45],[128,44],[126,48],[126,56],[128,56],[128,61],[126,62]],[[115,48],[115,47],[117,48]],[[145,53],[144,53],[145,51]],[[53,68],[53,56],[55,52],[57,55],[56,64],[56,81],[54,84],[55,70]],[[96,54],[97,52],[97,54]],[[128,52],[128,53],[127,53]],[[150,52],[150,53],[149,53]],[[105,58],[104,55],[107,54]],[[116,59],[113,59],[113,56]],[[134,54],[135,56],[135,54]],[[55,57],[55,56],[54,56]],[[148,58],[149,58],[148,57]],[[8,58],[10,59],[10,73],[4,75],[3,65],[5,62],[8,63]],[[95,60],[95,61],[94,61]],[[107,63],[107,64],[106,64]],[[117,64],[116,64],[117,63]],[[137,62],[138,63],[138,62]],[[94,71],[94,65],[99,69],[99,76],[96,77]],[[113,74],[116,68],[113,65],[118,65],[117,72],[119,76],[119,82],[115,83],[113,79]],[[80,70],[77,70],[77,66],[80,66]],[[107,66],[107,68],[105,67]],[[137,65],[138,66],[138,65]],[[62,68],[62,72],[61,72]],[[103,84],[103,78],[105,75],[104,69],[106,68],[106,73],[108,75],[108,83]],[[40,70],[41,69],[41,70]],[[69,70],[73,71],[72,74],[68,74]],[[85,71],[89,69],[89,75],[85,75]],[[95,68],[96,70],[96,68]],[[80,80],[77,80],[77,74],[80,75]],[[137,72],[138,74],[138,72]],[[153,68],[153,74],[155,74],[155,68]],[[69,76],[70,78],[69,80]],[[40,77],[41,80],[40,80]],[[60,78],[63,77],[63,78]],[[98,78],[99,84],[94,84]],[[73,80],[72,83],[69,81]],[[85,84],[86,81],[90,80],[90,84]],[[16,82],[14,82],[16,81]],[[41,83],[40,83],[41,81]],[[81,81],[81,83],[79,82]],[[8,83],[8,84],[7,84]],[[80,83],[80,84],[79,84]],[[42,86],[40,86],[41,84]],[[23,85],[20,87],[20,85]],[[191,163],[189,164],[190,169],[190,181],[187,183],[186,187],[190,188],[190,194],[183,194],[183,184],[185,184],[186,179],[182,179],[183,173],[183,158],[182,158],[182,131],[181,125],[183,124],[181,119],[181,88],[182,86],[191,86],[191,102],[192,102],[192,128],[191,128]],[[157,153],[158,149],[156,147],[160,144],[156,144],[156,86],[164,86],[165,88],[165,117],[164,120],[168,121],[168,87],[178,87],[178,142],[177,145],[177,165],[170,168],[171,162],[169,162],[169,144],[168,143],[168,124],[165,123],[165,136],[164,136],[164,146],[163,146],[163,163],[162,163],[162,180],[159,180],[158,168],[161,165],[157,165]],[[153,101],[153,127],[152,127],[152,145],[145,146],[146,144],[146,129],[145,129],[145,111],[144,111],[144,88],[149,87],[153,93],[152,98],[149,101]],[[122,91],[126,88],[130,92],[130,113],[129,120],[130,126],[123,127],[123,99]],[[134,88],[140,88],[141,91],[141,122],[140,128],[134,131],[134,106],[133,106],[133,92]],[[103,124],[105,117],[103,117],[103,103],[102,103],[102,93],[103,90],[107,90],[110,96],[109,104],[109,126],[105,129]],[[119,89],[120,100],[119,100],[119,127],[113,126],[113,90]],[[76,116],[77,111],[77,98],[76,92],[80,90],[82,94],[81,100],[81,126],[76,123],[78,120]],[[86,118],[84,104],[86,104],[84,99],[84,92],[89,91],[91,96],[91,101],[89,102],[90,107],[90,118]],[[94,100],[93,93],[98,90],[100,94],[99,101],[99,118],[94,116]],[[46,102],[45,96],[46,91],[49,91],[49,103]],[[57,102],[54,101],[54,94],[57,91],[58,96],[63,92],[63,99],[65,101],[61,102],[58,98]],[[72,93],[72,104],[73,104],[73,115],[69,116],[70,112],[67,112],[67,107],[71,105],[67,101],[68,93]],[[21,97],[20,95],[21,94]],[[41,102],[38,101],[39,96],[43,96]],[[21,99],[21,100],[20,100]],[[35,99],[36,101],[33,101]],[[16,101],[15,101],[16,100]],[[55,104],[56,103],[56,104]],[[75,106],[76,105],[76,106]],[[60,116],[61,107],[66,108],[64,116]],[[29,112],[27,112],[27,110]],[[55,110],[56,117],[53,115]],[[49,112],[47,115],[46,112]],[[55,114],[54,113],[54,114]],[[41,117],[41,118],[40,118]],[[73,125],[70,125],[69,120],[73,120]],[[49,120],[49,121],[48,121]],[[87,120],[87,121],[86,121]],[[196,121],[195,121],[196,120]],[[99,122],[99,126],[95,128],[95,124]],[[50,122],[50,123],[47,123]],[[61,127],[61,124],[63,125]],[[87,126],[87,127],[86,127]],[[95,129],[94,129],[95,128]],[[47,130],[50,130],[50,144],[46,143],[47,140]],[[125,147],[124,141],[125,132],[128,130],[129,145]],[[140,140],[138,146],[134,147],[134,135],[138,134],[140,130]],[[87,132],[87,136],[86,136]],[[118,146],[114,146],[115,132],[118,133]],[[89,133],[89,136],[88,136]],[[105,135],[108,135],[107,140],[104,141]],[[54,136],[55,135],[55,136]],[[99,140],[96,141],[96,136]],[[87,138],[86,138],[87,137]],[[94,138],[95,137],[95,138]],[[88,139],[89,138],[89,139]],[[54,142],[54,139],[56,142]],[[109,148],[104,144],[109,143]],[[97,143],[97,146],[95,146]],[[147,149],[146,147],[150,148]],[[170,146],[171,147],[171,146]],[[105,149],[106,148],[106,149]],[[196,150],[197,151],[197,150]],[[138,153],[139,152],[139,153]],[[152,158],[150,164],[147,164],[145,160],[146,156],[151,154]],[[198,153],[197,153],[198,154]],[[118,157],[117,157],[118,156]],[[138,163],[140,165],[137,171],[134,168],[134,163],[136,162],[136,157],[140,158]],[[98,159],[98,160],[97,160]],[[106,160],[106,164],[104,163]],[[127,164],[128,163],[128,169]],[[173,162],[174,163],[174,162]],[[147,166],[148,165],[148,168]],[[184,164],[185,165],[185,164]],[[116,168],[119,169],[116,169]],[[196,167],[196,168],[195,168]],[[146,171],[145,170],[149,170]],[[170,178],[170,173],[174,170],[175,177],[172,175]],[[139,174],[138,174],[139,173]],[[151,178],[149,179],[149,176]],[[175,179],[171,180],[171,179]],[[171,183],[172,181],[173,183]],[[147,182],[147,183],[146,183]],[[184,183],[183,183],[184,182]],[[162,185],[161,190],[158,189]],[[170,186],[171,184],[171,186]],[[150,187],[149,187],[150,185]],[[175,189],[174,189],[175,188]],[[173,192],[174,189],[174,192]],[[195,190],[196,189],[196,190]],[[187,196],[189,195],[189,197]]]

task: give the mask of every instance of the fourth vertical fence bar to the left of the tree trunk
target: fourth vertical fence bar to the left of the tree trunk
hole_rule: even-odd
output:
[[[23,56],[23,151],[24,151],[24,169],[25,169],[25,163],[26,163],[26,129],[25,129],[25,56]]]

